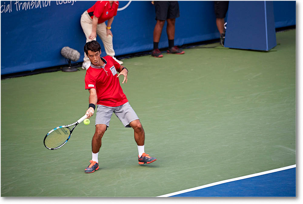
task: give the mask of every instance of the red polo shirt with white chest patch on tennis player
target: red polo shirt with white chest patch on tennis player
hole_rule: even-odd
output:
[[[120,64],[111,56],[101,57],[104,68],[91,66],[86,70],[85,89],[94,88],[97,91],[99,105],[119,106],[128,102],[117,78]]]

